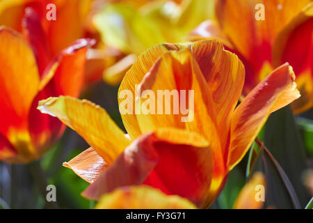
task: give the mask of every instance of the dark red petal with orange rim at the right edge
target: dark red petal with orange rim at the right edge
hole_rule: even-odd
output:
[[[291,104],[298,114],[310,109],[313,104],[313,3],[283,29],[273,46],[273,64],[288,62],[294,68],[301,98]]]

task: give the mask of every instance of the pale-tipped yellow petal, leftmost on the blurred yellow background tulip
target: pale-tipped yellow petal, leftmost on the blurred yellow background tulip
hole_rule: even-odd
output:
[[[104,6],[93,18],[93,23],[104,43],[127,54],[138,55],[152,45],[166,43],[166,32],[161,29],[159,20],[121,3]],[[171,29],[168,32],[172,33]]]

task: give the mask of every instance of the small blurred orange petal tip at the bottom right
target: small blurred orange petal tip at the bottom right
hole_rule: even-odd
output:
[[[253,174],[252,178],[239,193],[234,203],[234,209],[261,209],[264,206],[264,201],[259,200],[259,193],[262,189],[265,189],[265,187],[266,182],[264,175],[260,172]]]

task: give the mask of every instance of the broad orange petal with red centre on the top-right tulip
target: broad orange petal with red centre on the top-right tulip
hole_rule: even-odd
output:
[[[234,47],[259,71],[265,61],[271,62],[271,49],[278,33],[310,1],[221,0],[217,1],[216,15]],[[264,6],[264,20],[256,19],[262,13],[259,3]]]

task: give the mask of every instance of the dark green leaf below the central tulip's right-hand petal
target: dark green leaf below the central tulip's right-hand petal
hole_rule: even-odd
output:
[[[274,112],[268,118],[265,126],[264,142],[287,174],[294,186],[300,205],[304,207],[310,199],[301,180],[301,174],[307,169],[307,160],[303,141],[289,107]]]

